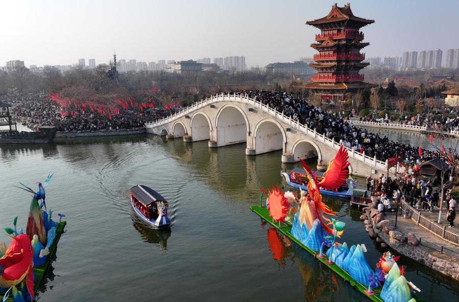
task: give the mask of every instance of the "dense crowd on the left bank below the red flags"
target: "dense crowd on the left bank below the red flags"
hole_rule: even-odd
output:
[[[13,116],[24,118],[28,126],[52,125],[57,126],[58,131],[132,129],[143,127],[145,122],[160,117],[152,111],[141,112],[132,106],[118,106],[113,114],[77,107],[73,103],[64,108],[50,97],[38,93],[3,96],[1,100],[13,105]]]

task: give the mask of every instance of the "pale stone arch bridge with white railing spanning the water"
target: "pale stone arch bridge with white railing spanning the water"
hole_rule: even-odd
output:
[[[209,141],[217,148],[246,143],[246,155],[282,150],[282,162],[318,157],[327,163],[340,145],[275,109],[242,95],[220,94],[162,120],[146,123],[147,133],[171,134],[186,142]],[[387,162],[348,149],[350,172],[367,177],[387,171]]]

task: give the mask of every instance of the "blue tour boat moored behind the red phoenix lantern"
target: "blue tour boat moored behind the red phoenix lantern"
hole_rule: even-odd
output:
[[[295,187],[297,189],[302,189],[303,191],[308,190],[307,186],[307,177],[302,168],[293,168],[290,174],[281,171],[281,176],[285,177],[287,184],[289,186]],[[315,171],[314,176],[318,179],[323,178],[323,172]],[[350,184],[350,185],[349,185]],[[320,188],[320,193],[322,195],[329,195],[341,198],[350,198],[354,194],[355,183],[353,180],[348,179],[347,182],[343,183],[337,190],[329,190],[325,188]]]

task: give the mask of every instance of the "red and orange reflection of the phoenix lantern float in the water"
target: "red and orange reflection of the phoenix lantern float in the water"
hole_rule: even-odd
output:
[[[262,222],[262,228],[264,226],[265,223]],[[267,241],[272,258],[279,268],[298,265],[304,284],[305,301],[366,300],[333,271],[272,227],[267,230]]]

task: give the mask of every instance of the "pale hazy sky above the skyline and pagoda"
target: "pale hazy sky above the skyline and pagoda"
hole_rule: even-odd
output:
[[[248,66],[309,57],[328,0],[1,0],[0,65],[70,65],[79,58],[158,61],[245,56]],[[343,6],[347,1],[338,2]],[[458,0],[353,0],[367,57],[459,48]]]

